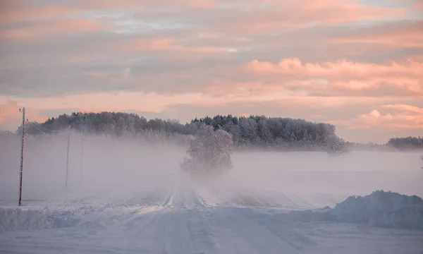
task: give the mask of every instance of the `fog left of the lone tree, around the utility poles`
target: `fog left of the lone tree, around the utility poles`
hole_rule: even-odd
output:
[[[71,135],[69,149],[69,190],[109,189],[114,191],[134,188],[160,187],[178,174],[179,161],[185,155],[182,147],[152,144],[137,140],[85,135]],[[23,193],[54,195],[54,190],[65,190],[67,135],[25,138]],[[20,138],[2,143],[1,186],[10,186],[1,195],[17,195],[16,178],[20,167]],[[82,171],[83,170],[83,171]],[[7,176],[7,177],[6,177]],[[10,179],[15,182],[11,183]],[[13,186],[13,187],[12,187]],[[44,191],[45,190],[45,191]],[[9,197],[10,198],[10,197]],[[13,197],[16,198],[16,197]],[[25,199],[25,195],[24,195]]]

